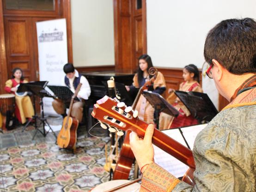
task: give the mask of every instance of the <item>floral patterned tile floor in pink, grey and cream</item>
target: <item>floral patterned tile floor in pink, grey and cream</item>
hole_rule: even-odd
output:
[[[45,138],[37,133],[32,140],[31,129],[0,134],[0,192],[86,192],[109,180],[102,150],[108,137],[86,137],[85,127],[80,127],[80,148],[73,154],[60,150],[52,133]],[[99,127],[93,134],[106,135]]]

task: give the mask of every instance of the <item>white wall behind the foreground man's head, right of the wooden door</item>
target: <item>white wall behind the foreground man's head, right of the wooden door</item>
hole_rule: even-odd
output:
[[[146,0],[146,12],[147,53],[154,66],[202,68],[207,32],[224,19],[256,18],[256,1]],[[202,88],[217,108],[214,82],[202,77]]]

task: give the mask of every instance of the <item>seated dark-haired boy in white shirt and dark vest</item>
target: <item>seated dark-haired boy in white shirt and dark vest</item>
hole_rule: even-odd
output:
[[[64,65],[63,70],[66,73],[64,83],[70,90],[72,90],[73,93],[75,92],[78,84],[82,84],[77,95],[81,101],[75,101],[71,111],[71,116],[76,118],[80,123],[83,118],[83,107],[85,104],[83,101],[87,100],[90,96],[91,88],[87,79],[78,73],[72,63],[67,63]],[[69,107],[69,103],[60,99],[55,99],[52,102],[52,105],[57,114],[61,114],[63,117],[67,115],[66,109]]]

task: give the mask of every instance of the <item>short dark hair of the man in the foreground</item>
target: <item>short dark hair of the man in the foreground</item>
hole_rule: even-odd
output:
[[[256,21],[252,18],[221,21],[207,34],[204,58],[217,60],[229,72],[256,72]]]

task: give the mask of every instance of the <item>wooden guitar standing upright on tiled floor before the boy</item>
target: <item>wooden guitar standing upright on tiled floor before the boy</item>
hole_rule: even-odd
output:
[[[77,138],[77,127],[78,127],[78,120],[71,117],[71,111],[72,111],[72,106],[74,102],[74,98],[77,96],[82,84],[79,83],[74,95],[71,98],[71,102],[69,105],[69,111],[67,116],[63,119],[61,131],[59,132],[58,138],[57,138],[57,144],[61,148],[67,148],[67,149],[74,149],[75,144],[76,144],[76,138]]]

